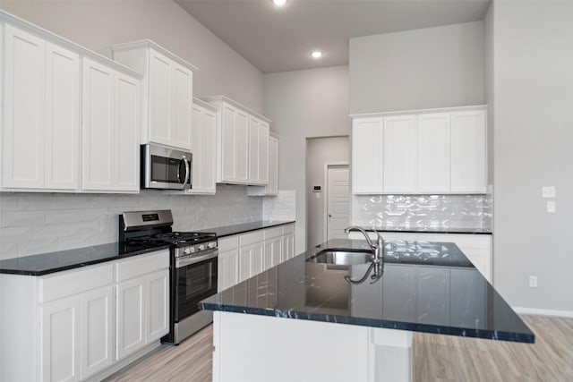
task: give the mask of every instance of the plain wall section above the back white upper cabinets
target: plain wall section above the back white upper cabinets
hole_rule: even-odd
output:
[[[483,21],[350,39],[350,114],[483,104]]]

